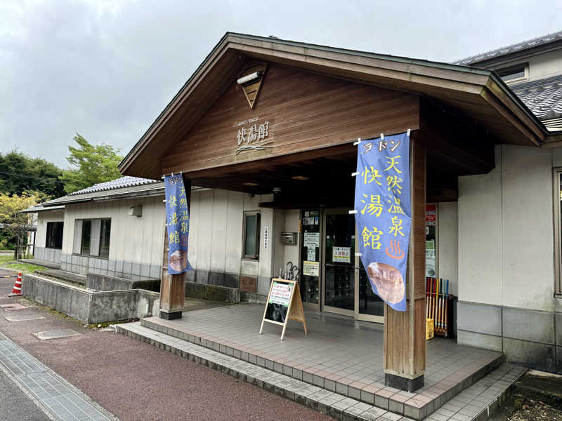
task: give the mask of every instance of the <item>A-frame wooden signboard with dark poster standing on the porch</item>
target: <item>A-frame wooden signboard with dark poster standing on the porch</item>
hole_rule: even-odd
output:
[[[308,335],[299,283],[287,279],[273,279],[269,287],[268,300],[263,312],[263,319],[261,319],[259,333],[261,335],[263,322],[265,321],[278,324],[283,326],[281,333],[281,340],[283,340],[289,320],[301,321],[304,326],[304,334]]]

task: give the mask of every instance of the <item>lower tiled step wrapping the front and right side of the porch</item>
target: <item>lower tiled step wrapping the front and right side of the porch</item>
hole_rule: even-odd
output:
[[[158,332],[142,326],[140,322],[119,324],[117,332],[204,366],[220,370],[339,420],[485,420],[505,399],[511,385],[526,370],[502,363],[439,408],[432,408],[431,413],[425,412],[429,409],[427,406],[424,407],[424,410],[413,412],[403,406],[405,412],[400,413],[395,410],[396,408],[390,408],[388,399],[386,399],[386,404],[384,401],[375,401],[372,405],[324,387],[311,385],[256,363],[244,361],[234,354],[228,355],[167,333]]]

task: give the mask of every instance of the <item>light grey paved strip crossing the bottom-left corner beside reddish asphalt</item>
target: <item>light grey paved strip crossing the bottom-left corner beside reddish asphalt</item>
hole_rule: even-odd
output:
[[[0,369],[53,420],[118,421],[69,382],[0,333]]]

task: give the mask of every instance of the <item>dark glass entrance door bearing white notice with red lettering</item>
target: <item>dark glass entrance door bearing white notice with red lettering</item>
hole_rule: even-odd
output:
[[[327,210],[324,221],[324,310],[355,316],[355,218]]]

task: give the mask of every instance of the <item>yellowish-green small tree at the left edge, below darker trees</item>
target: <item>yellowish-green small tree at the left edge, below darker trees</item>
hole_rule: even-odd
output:
[[[23,192],[22,194],[8,194],[0,192],[0,226],[5,234],[15,237],[14,258],[22,255],[27,247],[27,232],[34,227],[34,215],[21,213],[20,210],[30,208],[48,200],[49,197],[41,192]]]

